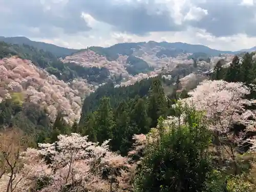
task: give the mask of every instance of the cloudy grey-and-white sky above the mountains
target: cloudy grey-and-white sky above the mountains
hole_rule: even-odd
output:
[[[169,41],[256,46],[256,0],[0,0],[0,35],[70,48]]]

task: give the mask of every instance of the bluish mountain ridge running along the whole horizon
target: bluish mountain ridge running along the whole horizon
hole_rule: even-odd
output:
[[[70,48],[65,48],[61,46],[57,46],[54,44],[48,44],[46,42],[40,42],[40,41],[33,41],[27,37],[24,36],[16,36],[16,37],[4,37],[0,36],[0,41],[5,41],[10,44],[26,44],[29,46],[33,46],[37,49],[42,49],[44,51],[49,51],[55,54],[58,57],[65,57],[68,55],[72,55],[74,53],[87,50],[87,49],[70,49]],[[217,49],[212,49],[209,48],[208,46],[201,45],[201,44],[187,44],[186,42],[167,42],[167,41],[139,41],[139,42],[122,42],[118,44],[114,44],[110,47],[100,47],[100,46],[91,46],[89,49],[95,51],[96,53],[100,53],[101,55],[106,55],[110,60],[117,58],[116,54],[121,52],[120,54],[124,55],[130,55],[131,54],[131,49],[136,49],[139,46],[142,45],[148,45],[148,46],[161,46],[165,49],[178,49],[178,50],[183,50],[187,53],[197,53],[197,52],[203,52],[211,56],[217,56],[219,54],[238,54],[240,52],[245,52],[246,50],[248,51],[255,51],[256,47],[249,48],[249,49],[242,49],[238,51],[223,51],[223,50],[217,50]],[[122,50],[124,48],[124,50]],[[121,49],[121,50],[120,50]],[[109,52],[114,50],[114,55],[109,56]],[[118,51],[119,50],[119,51]],[[103,53],[101,53],[103,52]],[[106,53],[105,53],[106,52]]]

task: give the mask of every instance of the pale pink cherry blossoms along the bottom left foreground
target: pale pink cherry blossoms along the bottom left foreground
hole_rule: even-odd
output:
[[[99,145],[75,133],[59,135],[58,139],[53,144],[39,144],[39,150],[28,148],[23,153],[24,166],[16,177],[23,180],[16,191],[38,188],[39,181],[44,183],[40,192],[65,188],[70,191],[129,189],[126,184],[131,175],[129,159],[110,152],[109,141]],[[0,191],[5,187],[3,183],[2,187]]]

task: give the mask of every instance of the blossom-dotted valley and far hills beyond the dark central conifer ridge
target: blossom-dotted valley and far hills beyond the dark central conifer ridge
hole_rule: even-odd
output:
[[[33,102],[39,104],[40,109],[46,109],[53,121],[57,111],[61,110],[69,123],[79,121],[84,98],[105,83],[113,82],[116,87],[129,86],[162,74],[173,79],[179,76],[185,88],[189,81],[197,84],[204,79],[198,71],[213,68],[221,59],[229,63],[234,54],[199,45],[155,41],[72,52],[25,37],[1,39],[5,42],[0,44],[0,99],[20,93],[25,102]],[[63,58],[54,55],[61,50],[63,54],[58,55],[71,51],[70,55]]]

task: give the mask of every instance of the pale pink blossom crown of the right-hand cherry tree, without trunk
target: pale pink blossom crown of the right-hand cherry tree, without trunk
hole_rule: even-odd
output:
[[[244,96],[249,93],[249,89],[240,82],[205,80],[188,93],[191,97],[181,102],[205,111],[210,129],[226,133],[232,123],[254,126],[254,122],[247,119],[248,114],[254,116],[254,112],[245,109],[245,104],[250,104],[250,101]]]

